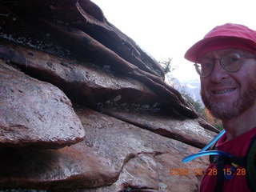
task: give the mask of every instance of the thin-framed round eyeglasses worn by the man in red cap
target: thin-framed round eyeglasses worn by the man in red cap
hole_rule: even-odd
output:
[[[245,54],[238,54],[236,52],[230,52],[222,56],[219,59],[221,66],[228,72],[236,72],[242,66],[242,58],[256,58],[256,56],[249,56]],[[200,77],[207,77],[214,69],[215,59],[213,58],[202,58],[194,64],[195,70],[197,70]]]

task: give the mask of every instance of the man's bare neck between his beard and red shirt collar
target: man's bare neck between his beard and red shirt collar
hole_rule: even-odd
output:
[[[256,104],[237,118],[222,120],[222,125],[226,130],[227,141],[252,130],[256,126]]]

